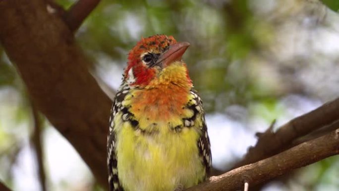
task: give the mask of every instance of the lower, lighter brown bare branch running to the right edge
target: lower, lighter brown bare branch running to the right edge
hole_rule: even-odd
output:
[[[245,182],[249,183],[251,188],[293,169],[336,154],[339,154],[339,129],[301,143],[273,157],[239,167],[217,177],[211,177],[209,182],[185,191],[235,191],[242,189]]]

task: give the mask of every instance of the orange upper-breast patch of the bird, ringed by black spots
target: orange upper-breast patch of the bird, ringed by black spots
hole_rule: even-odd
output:
[[[175,85],[132,92],[122,105],[128,107],[138,128],[148,132],[163,131],[182,125],[182,119],[193,112],[186,104],[189,91]]]

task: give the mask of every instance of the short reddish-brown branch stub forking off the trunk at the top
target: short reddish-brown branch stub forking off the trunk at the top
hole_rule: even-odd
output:
[[[100,0],[78,0],[66,12],[65,21],[69,29],[76,31]]]

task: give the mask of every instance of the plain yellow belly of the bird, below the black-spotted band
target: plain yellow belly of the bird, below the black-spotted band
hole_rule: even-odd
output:
[[[143,134],[128,123],[122,126],[116,135],[124,138],[116,140],[115,152],[118,178],[126,191],[173,191],[203,179],[197,130]]]

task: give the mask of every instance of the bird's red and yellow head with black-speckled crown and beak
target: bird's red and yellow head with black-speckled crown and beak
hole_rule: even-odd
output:
[[[192,86],[181,56],[187,42],[176,42],[172,36],[154,35],[142,38],[128,54],[124,80],[130,86],[152,88],[157,84]]]

